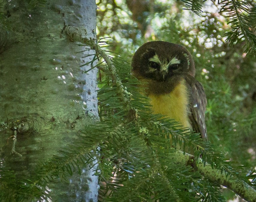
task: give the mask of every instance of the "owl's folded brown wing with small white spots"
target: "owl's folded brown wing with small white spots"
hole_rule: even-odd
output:
[[[193,130],[201,134],[201,137],[207,140],[207,131],[205,126],[206,96],[201,83],[192,79],[191,84],[191,105],[189,119]]]

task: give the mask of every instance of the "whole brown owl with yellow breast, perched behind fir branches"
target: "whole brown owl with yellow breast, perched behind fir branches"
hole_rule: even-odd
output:
[[[164,41],[147,42],[135,52],[131,66],[139,80],[148,82],[146,94],[154,113],[175,119],[207,139],[205,91],[194,78],[194,61],[186,48]]]

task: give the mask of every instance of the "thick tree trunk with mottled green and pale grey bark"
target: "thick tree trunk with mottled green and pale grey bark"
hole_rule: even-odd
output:
[[[29,6],[18,0],[6,3],[8,18],[0,26],[0,36],[5,37],[0,42],[0,155],[18,176],[33,175],[37,162],[76,138],[78,129],[94,121],[92,117],[98,119],[97,70],[82,73],[91,65],[79,66],[92,58],[81,58],[85,47],[72,40],[76,34],[96,37],[95,1]],[[94,183],[88,185],[89,192],[82,190],[87,181],[81,181],[88,175],[88,182]],[[75,193],[66,190],[71,198],[97,201],[98,179],[91,171],[88,175],[85,169],[78,177],[79,183],[72,186]]]

